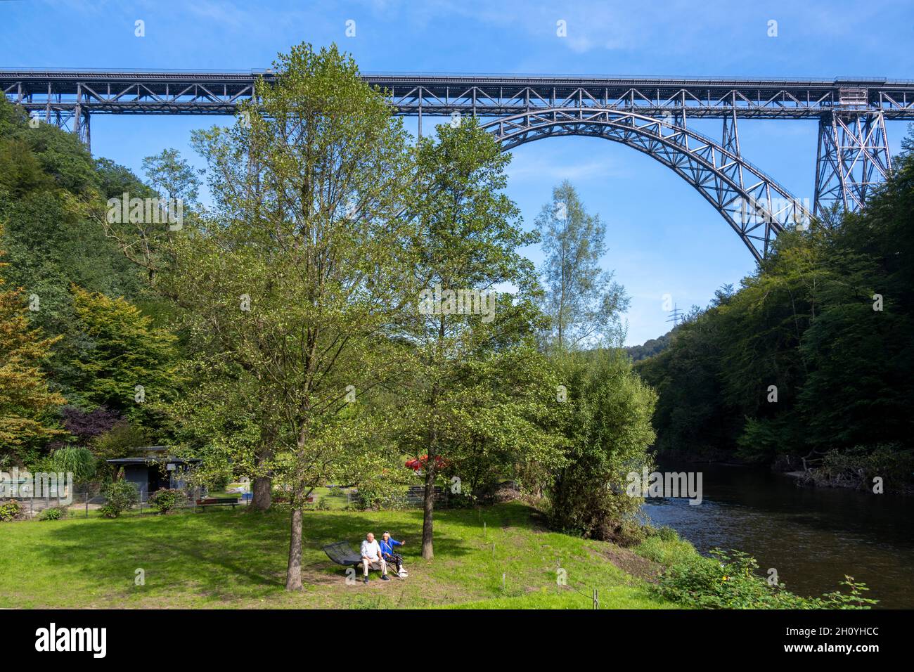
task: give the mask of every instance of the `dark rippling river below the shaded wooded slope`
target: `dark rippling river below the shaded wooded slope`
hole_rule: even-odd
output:
[[[739,549],[775,568],[792,592],[834,591],[845,574],[864,581],[877,607],[914,608],[914,497],[801,488],[791,476],[725,464],[661,460],[661,472],[702,472],[703,501],[649,498],[644,511],[701,553]]]

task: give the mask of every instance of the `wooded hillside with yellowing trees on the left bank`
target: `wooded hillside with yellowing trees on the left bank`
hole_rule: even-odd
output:
[[[154,304],[143,272],[99,224],[123,192],[154,196],[0,98],[0,469],[41,467],[69,443],[104,458],[154,440],[134,388],[167,378],[173,337],[141,314]]]

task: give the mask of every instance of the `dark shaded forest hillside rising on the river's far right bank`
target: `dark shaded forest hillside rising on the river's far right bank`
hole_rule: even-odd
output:
[[[914,444],[914,157],[863,213],[782,233],[736,292],[640,361],[662,452],[901,486]]]

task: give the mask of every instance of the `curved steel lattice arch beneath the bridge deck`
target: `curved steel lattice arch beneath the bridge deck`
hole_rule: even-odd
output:
[[[810,221],[809,208],[738,151],[669,117],[556,107],[500,117],[482,126],[503,151],[547,137],[583,135],[626,144],[652,156],[695,187],[759,261],[783,229],[805,227]]]

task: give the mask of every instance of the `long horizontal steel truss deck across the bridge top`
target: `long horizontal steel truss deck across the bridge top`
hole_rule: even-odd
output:
[[[257,78],[271,70],[4,69],[0,90],[29,111],[73,109],[107,114],[233,114]],[[881,111],[914,120],[914,80],[844,78],[608,78],[526,75],[367,73],[404,115],[452,112],[494,116],[550,107],[637,109],[696,117],[822,117],[834,111]]]

